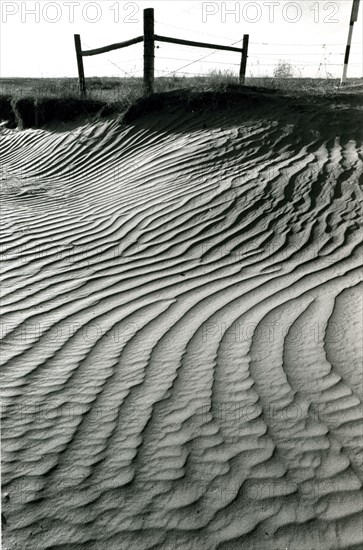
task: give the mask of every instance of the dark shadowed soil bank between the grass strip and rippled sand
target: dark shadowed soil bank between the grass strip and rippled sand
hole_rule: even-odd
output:
[[[246,113],[259,111],[267,117],[285,116],[298,123],[306,117],[313,126],[324,127],[336,123],[348,129],[354,118],[362,120],[361,94],[334,94],[333,96],[287,95],[280,90],[261,87],[229,85],[221,90],[173,90],[155,93],[136,100],[131,106],[82,98],[13,98],[0,96],[0,120],[8,128],[44,128],[57,124],[84,124],[87,121],[118,115],[120,121],[132,124],[139,119],[161,113],[208,114],[216,110]],[[284,115],[285,114],[285,115]],[[58,131],[60,129],[58,128]]]

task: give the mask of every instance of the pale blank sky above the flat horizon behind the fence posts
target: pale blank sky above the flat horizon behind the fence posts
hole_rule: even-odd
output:
[[[143,34],[143,9],[154,8],[159,35],[239,47],[249,34],[247,76],[271,76],[284,60],[296,76],[326,78],[342,74],[352,0],[1,0],[0,7],[1,77],[76,77],[74,34],[84,50],[128,40]],[[362,77],[362,12],[361,1],[348,77]],[[156,76],[239,71],[239,53],[157,46]],[[83,58],[86,77],[142,76],[142,48]]]

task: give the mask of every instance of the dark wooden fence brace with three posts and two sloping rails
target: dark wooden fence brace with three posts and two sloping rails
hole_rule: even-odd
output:
[[[208,42],[194,42],[192,40],[183,40],[181,38],[171,38],[169,36],[160,36],[154,32],[154,9],[148,8],[144,10],[144,34],[125,42],[110,44],[102,48],[93,50],[82,50],[81,37],[79,34],[74,35],[74,44],[76,48],[79,89],[81,97],[86,97],[86,80],[84,76],[83,57],[98,55],[120,48],[126,48],[139,42],[144,43],[144,93],[150,94],[154,91],[155,80],[155,42],[167,42],[169,44],[179,44],[182,46],[192,46],[197,48],[209,48],[212,50],[221,50],[228,52],[237,52],[241,54],[241,64],[239,72],[239,82],[244,85],[246,78],[246,67],[248,58],[248,43],[249,35],[243,35],[243,47],[235,48],[234,46],[221,46],[219,44],[209,44]]]

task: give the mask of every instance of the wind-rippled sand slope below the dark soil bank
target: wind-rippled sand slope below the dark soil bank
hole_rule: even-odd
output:
[[[1,131],[5,548],[360,546],[359,126]]]

